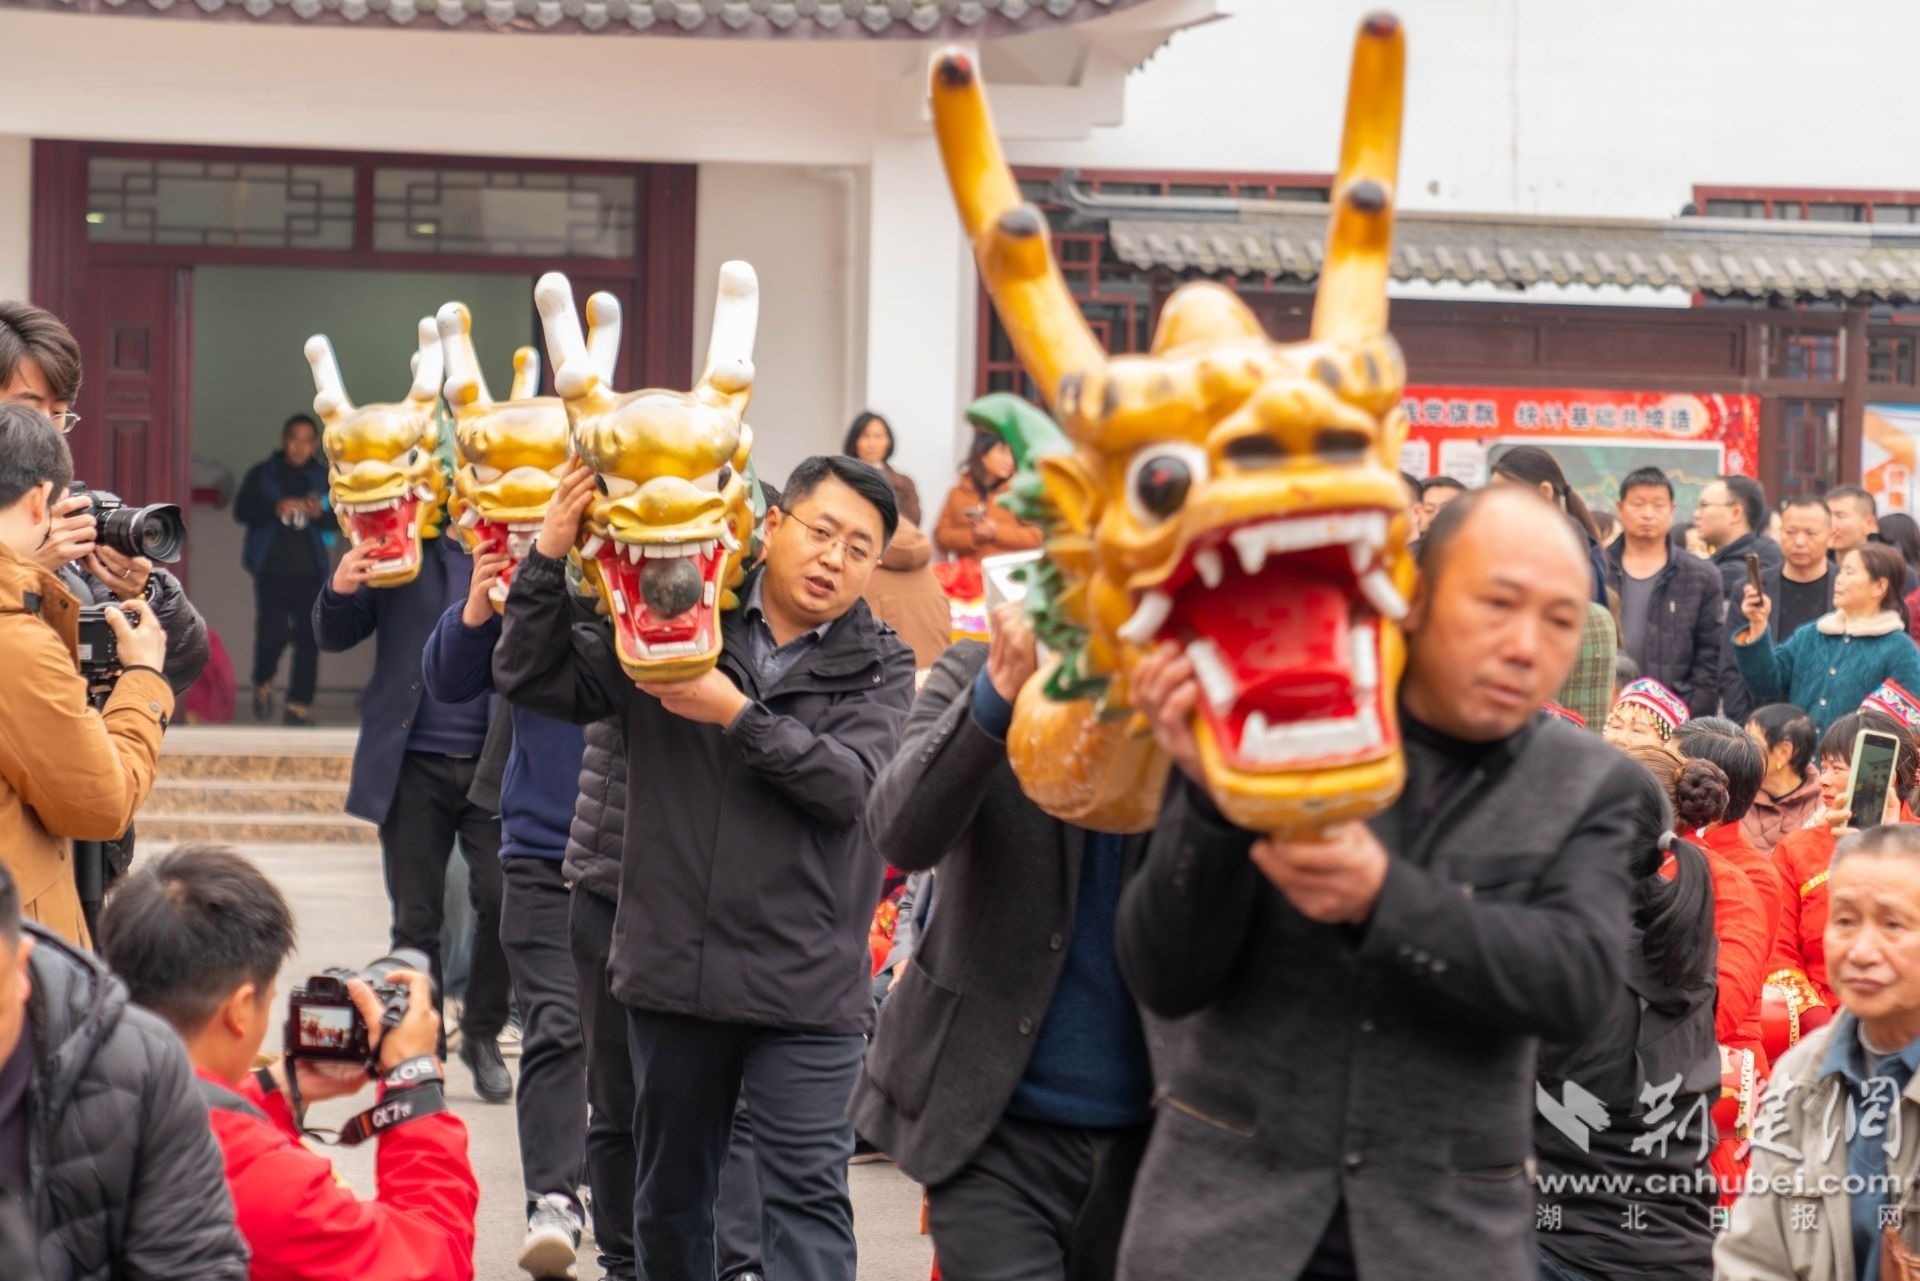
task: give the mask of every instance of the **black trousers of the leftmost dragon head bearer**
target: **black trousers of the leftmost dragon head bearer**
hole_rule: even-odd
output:
[[[447,858],[459,837],[467,858],[467,899],[474,908],[474,955],[461,1006],[461,1035],[492,1041],[507,1026],[507,956],[499,947],[499,814],[467,799],[474,759],[409,751],[401,757],[394,809],[380,824],[380,866],[394,908],[394,947],[417,947],[434,960],[442,989],[440,916]]]

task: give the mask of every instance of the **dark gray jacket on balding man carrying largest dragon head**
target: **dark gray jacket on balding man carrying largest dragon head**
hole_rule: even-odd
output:
[[[1369,1281],[1538,1273],[1534,1058],[1622,983],[1636,766],[1542,714],[1423,816],[1434,778],[1407,759],[1365,926],[1309,922],[1254,834],[1169,791],[1117,947],[1148,1008],[1192,1018],[1121,1281],[1300,1275],[1340,1204]]]

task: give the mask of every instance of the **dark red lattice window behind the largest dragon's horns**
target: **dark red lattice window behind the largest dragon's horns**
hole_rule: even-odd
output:
[[[1146,351],[1154,340],[1154,280],[1133,263],[1119,261],[1106,229],[1089,230],[1071,223],[1068,209],[1054,200],[1058,169],[1020,169],[1021,194],[1037,204],[1054,230],[1054,255],[1068,280],[1081,315],[1092,326],[1094,338],[1108,351],[1121,355]],[[1188,173],[1156,175],[1098,175],[1079,173],[1075,182],[1102,196],[1223,196],[1240,200],[1327,200],[1325,181],[1281,179],[1261,175],[1229,175],[1221,181],[1196,181]],[[1229,280],[1229,284],[1233,284]],[[1018,392],[1039,399],[1039,388],[1027,378],[1014,344],[1000,326],[993,303],[979,300],[979,359],[975,384],[979,394]]]

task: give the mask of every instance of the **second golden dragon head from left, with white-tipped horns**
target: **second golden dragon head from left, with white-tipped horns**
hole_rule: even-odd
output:
[[[595,303],[611,309],[611,344],[618,346],[620,305],[611,294],[595,294]],[[461,544],[478,555],[505,551],[513,561],[488,590],[499,611],[520,557],[534,545],[547,503],[559,488],[559,474],[570,455],[566,405],[540,390],[540,351],[513,353],[509,399],[493,401],[480,357],[474,353],[472,315],[467,303],[449,302],[440,309],[440,346],[447,353],[447,409],[453,413],[453,497],[447,517]],[[611,351],[612,348],[609,348]],[[612,367],[605,369],[612,376]]]

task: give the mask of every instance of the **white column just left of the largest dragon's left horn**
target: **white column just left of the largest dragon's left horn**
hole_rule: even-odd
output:
[[[866,252],[866,407],[931,526],[970,434],[979,288],[931,133],[876,138]]]

